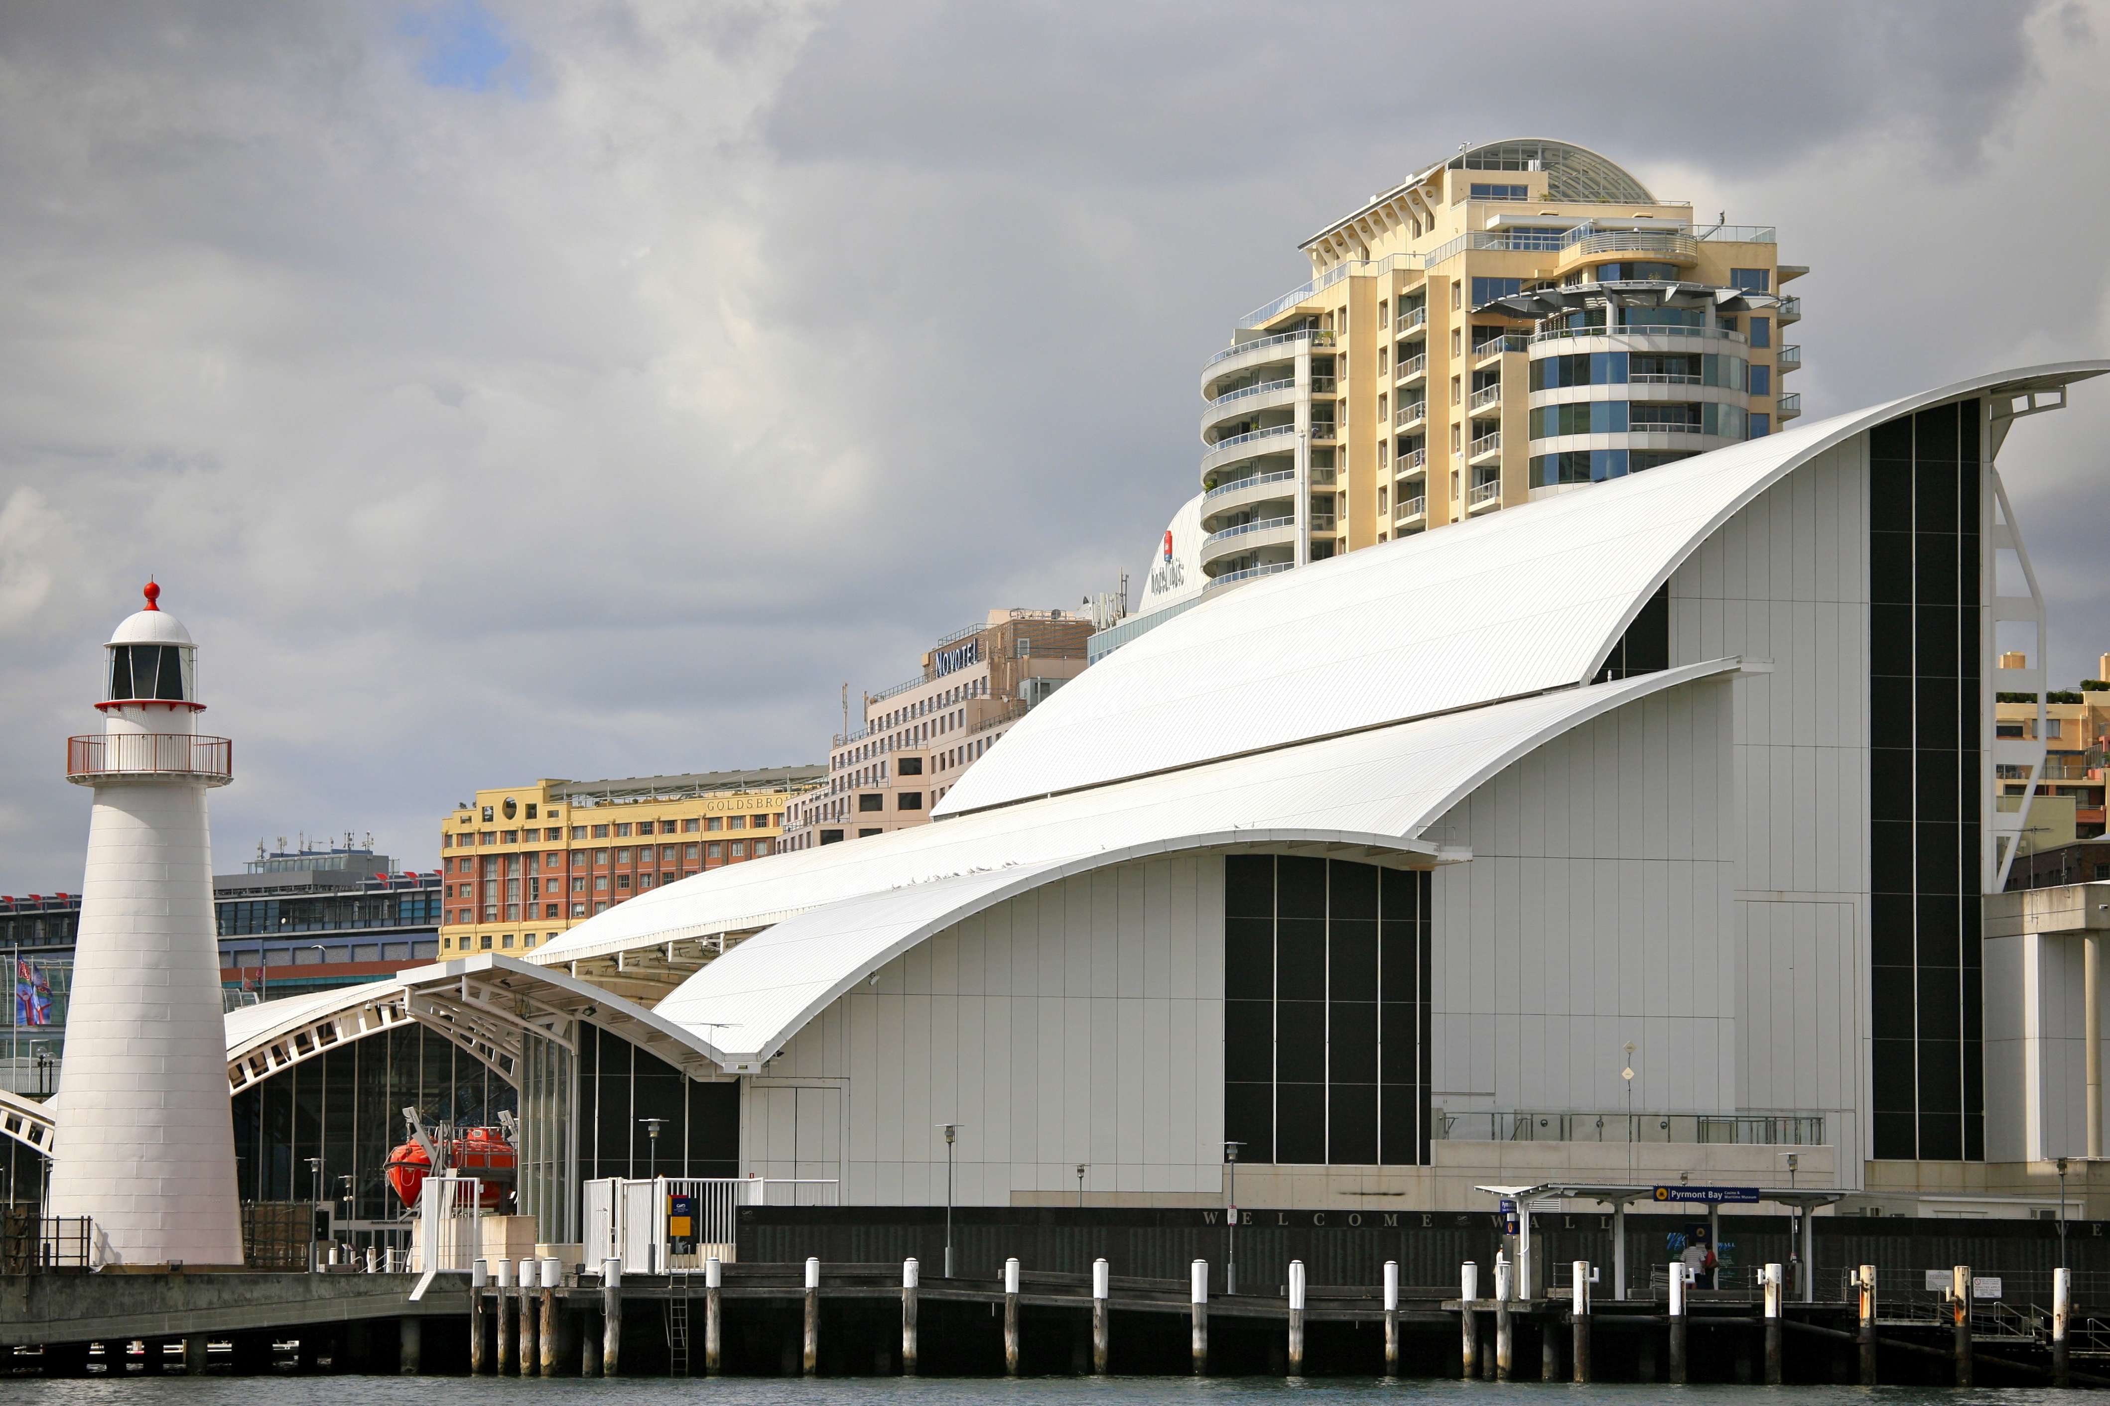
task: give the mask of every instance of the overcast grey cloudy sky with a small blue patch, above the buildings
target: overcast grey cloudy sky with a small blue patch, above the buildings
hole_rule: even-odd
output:
[[[217,866],[477,786],[821,761],[1194,491],[1298,242],[1540,135],[1781,230],[1810,415],[2102,356],[2104,4],[0,4],[0,890],[74,890],[152,571]],[[2110,649],[2110,390],[2002,455]],[[1167,719],[1167,725],[1177,725]]]

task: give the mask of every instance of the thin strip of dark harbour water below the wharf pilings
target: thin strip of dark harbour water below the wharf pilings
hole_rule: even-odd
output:
[[[614,1381],[515,1381],[445,1376],[133,1376],[129,1381],[0,1381],[0,1406],[89,1406],[103,1402],[186,1402],[196,1406],[344,1406],[346,1402],[405,1406],[517,1406],[519,1402],[565,1402],[599,1406],[646,1406],[696,1402],[698,1406],[1215,1406],[1255,1400],[1298,1402],[1384,1402],[1412,1400],[1416,1406],[1492,1406],[1500,1398],[1559,1393],[1570,1404],[1625,1406],[1709,1400],[1720,1406],[1756,1398],[1751,1406],[1967,1406],[2011,1402],[2013,1406],[2072,1406],[2102,1400],[2087,1391],[2030,1387],[1642,1387],[1642,1385],[1540,1385],[1458,1381],[1372,1381],[1279,1376],[1040,1376],[1040,1379],[614,1379]]]

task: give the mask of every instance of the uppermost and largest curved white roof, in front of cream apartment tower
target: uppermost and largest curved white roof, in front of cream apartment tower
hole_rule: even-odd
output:
[[[1580,683],[1711,531],[1825,449],[1926,405],[2104,371],[1981,375],[1251,582],[1072,679],[933,816]]]

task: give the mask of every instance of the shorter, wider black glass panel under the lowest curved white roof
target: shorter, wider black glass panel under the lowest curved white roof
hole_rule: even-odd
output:
[[[1241,1161],[1428,1161],[1426,871],[1224,860],[1224,1136]]]

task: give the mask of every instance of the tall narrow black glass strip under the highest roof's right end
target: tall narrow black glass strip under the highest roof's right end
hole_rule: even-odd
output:
[[[1986,1157],[1979,949],[1981,407],[1869,430],[1876,1157]]]

